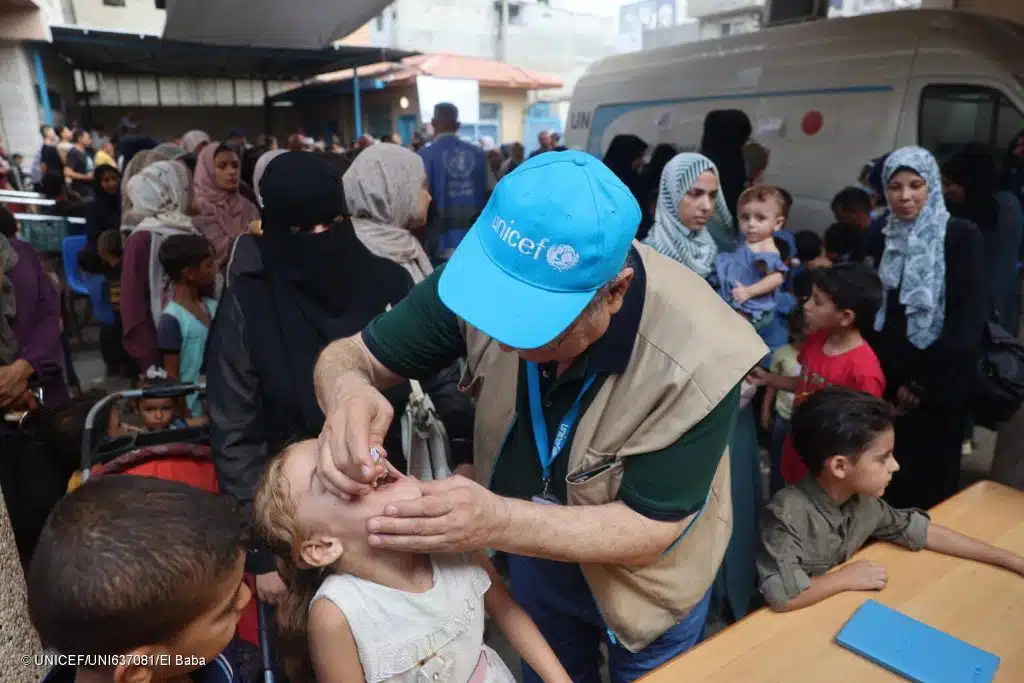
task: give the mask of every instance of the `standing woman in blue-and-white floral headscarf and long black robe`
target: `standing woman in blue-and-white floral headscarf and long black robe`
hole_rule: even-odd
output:
[[[871,339],[896,422],[896,460],[886,499],[928,509],[956,493],[961,449],[987,313],[982,236],[952,218],[935,158],[922,147],[885,162],[890,217],[879,275],[885,288]]]

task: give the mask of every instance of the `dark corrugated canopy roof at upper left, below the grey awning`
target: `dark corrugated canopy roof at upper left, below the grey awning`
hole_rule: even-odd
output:
[[[75,69],[104,74],[304,81],[415,54],[341,45],[316,49],[206,45],[158,36],[52,27],[52,46]]]

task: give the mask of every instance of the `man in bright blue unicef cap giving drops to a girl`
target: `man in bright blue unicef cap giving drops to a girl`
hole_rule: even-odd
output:
[[[727,442],[766,349],[695,274],[635,243],[640,207],[600,161],[506,176],[452,259],[316,367],[318,476],[388,472],[380,390],[465,356],[475,478],[370,520],[386,550],[509,554],[516,600],[573,680],[633,681],[700,637],[731,530]],[[537,675],[524,667],[527,681]]]

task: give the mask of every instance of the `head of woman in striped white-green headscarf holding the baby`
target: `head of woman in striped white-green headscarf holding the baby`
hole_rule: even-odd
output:
[[[708,278],[718,256],[716,239],[731,230],[715,164],[698,154],[673,157],[662,171],[654,224],[644,243]]]

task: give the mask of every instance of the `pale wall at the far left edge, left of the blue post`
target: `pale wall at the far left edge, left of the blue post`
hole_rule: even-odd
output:
[[[0,135],[8,154],[32,161],[41,144],[38,98],[34,92],[32,60],[17,43],[0,42]]]

